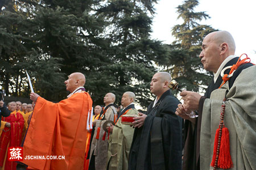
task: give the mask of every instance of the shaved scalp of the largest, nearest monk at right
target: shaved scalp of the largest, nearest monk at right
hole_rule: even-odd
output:
[[[212,40],[216,42],[218,45],[226,42],[229,46],[229,51],[232,53],[235,53],[236,51],[236,43],[234,42],[234,39],[232,35],[228,31],[216,31],[209,33],[209,35],[212,34]]]

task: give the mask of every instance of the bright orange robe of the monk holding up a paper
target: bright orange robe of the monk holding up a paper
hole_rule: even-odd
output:
[[[23,145],[24,160],[34,169],[82,169],[86,120],[92,99],[78,92],[59,103],[38,97]],[[65,159],[25,159],[26,156],[65,156]]]

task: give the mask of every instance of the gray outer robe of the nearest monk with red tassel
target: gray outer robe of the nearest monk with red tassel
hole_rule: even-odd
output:
[[[210,167],[222,100],[226,94],[225,127],[229,129],[232,170],[256,169],[256,66],[237,76],[229,89],[228,82],[205,99],[200,138],[200,169]]]

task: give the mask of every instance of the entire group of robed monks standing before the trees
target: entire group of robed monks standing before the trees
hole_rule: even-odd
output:
[[[105,106],[95,106],[93,116],[82,73],[68,76],[64,83],[70,94],[59,103],[34,92],[34,111],[33,104],[9,103],[11,114],[1,121],[0,170],[256,169],[256,66],[246,54],[244,59],[243,54],[235,56],[235,50],[229,32],[209,33],[199,56],[204,69],[214,73],[205,95],[184,90],[180,104],[170,90],[170,73],[158,72],[150,83],[155,100],[146,113],[135,109],[135,94],[126,91],[121,111],[109,92]],[[134,117],[127,125],[122,119],[129,116]],[[7,148],[18,146],[23,147],[24,158],[64,159],[10,162]]]

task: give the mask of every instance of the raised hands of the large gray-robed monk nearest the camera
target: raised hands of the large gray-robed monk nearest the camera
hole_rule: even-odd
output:
[[[197,94],[197,92],[182,91],[180,96],[182,96],[182,99],[184,100],[183,108],[185,112],[189,112],[189,110],[197,111],[199,109],[201,95]]]

